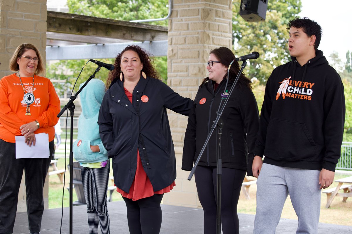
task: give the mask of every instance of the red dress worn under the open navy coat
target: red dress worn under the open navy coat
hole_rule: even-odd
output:
[[[125,88],[125,94],[127,95],[127,98],[130,100],[132,103],[132,94],[127,91]],[[154,192],[153,191],[153,186],[145,173],[142,165],[142,161],[140,159],[139,151],[137,150],[137,170],[136,170],[136,175],[134,176],[134,180],[132,182],[132,185],[130,187],[130,191],[126,193],[120,188],[117,188],[117,192],[121,193],[121,195],[125,198],[132,199],[132,201],[137,201],[142,198],[147,198],[150,196],[153,196],[154,194],[164,194],[170,192],[170,190],[176,186],[175,181],[172,182],[171,185],[167,186],[166,188],[163,188],[159,191]]]

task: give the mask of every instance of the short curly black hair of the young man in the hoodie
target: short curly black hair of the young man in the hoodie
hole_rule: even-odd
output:
[[[310,20],[307,17],[303,17],[302,19],[296,17],[287,23],[286,29],[290,30],[291,27],[302,28],[303,32],[308,36],[315,35],[314,49],[318,49],[321,39],[321,27],[317,22]]]

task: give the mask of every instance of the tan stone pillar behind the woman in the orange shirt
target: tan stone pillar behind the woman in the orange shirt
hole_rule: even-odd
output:
[[[0,78],[12,73],[9,68],[10,59],[22,43],[35,45],[45,65],[46,15],[46,0],[0,1]],[[48,177],[44,186],[44,204],[48,209]],[[17,212],[22,211],[26,211],[24,178],[21,181],[17,207]]]

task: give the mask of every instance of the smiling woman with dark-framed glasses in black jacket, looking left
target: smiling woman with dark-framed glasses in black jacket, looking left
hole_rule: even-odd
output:
[[[221,224],[222,233],[239,233],[237,203],[241,185],[246,175],[252,176],[254,142],[258,131],[259,112],[252,92],[252,82],[243,73],[228,97],[240,71],[237,61],[227,70],[235,56],[230,49],[220,47],[210,51],[207,62],[209,76],[196,94],[193,109],[188,117],[184,137],[182,169],[190,171],[216,119],[219,105],[229,98],[221,120],[224,122],[221,137]],[[204,233],[216,233],[216,131],[201,156],[195,171],[195,182],[204,211]]]

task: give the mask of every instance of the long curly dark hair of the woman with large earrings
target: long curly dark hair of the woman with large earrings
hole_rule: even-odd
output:
[[[126,51],[134,51],[138,54],[140,62],[143,64],[143,72],[150,78],[157,80],[160,79],[160,74],[156,71],[154,60],[151,59],[151,55],[142,47],[136,45],[130,45],[124,48],[116,57],[114,67],[115,69],[109,72],[108,79],[106,80],[106,87],[109,88],[117,80],[120,80],[121,73],[121,56]]]

